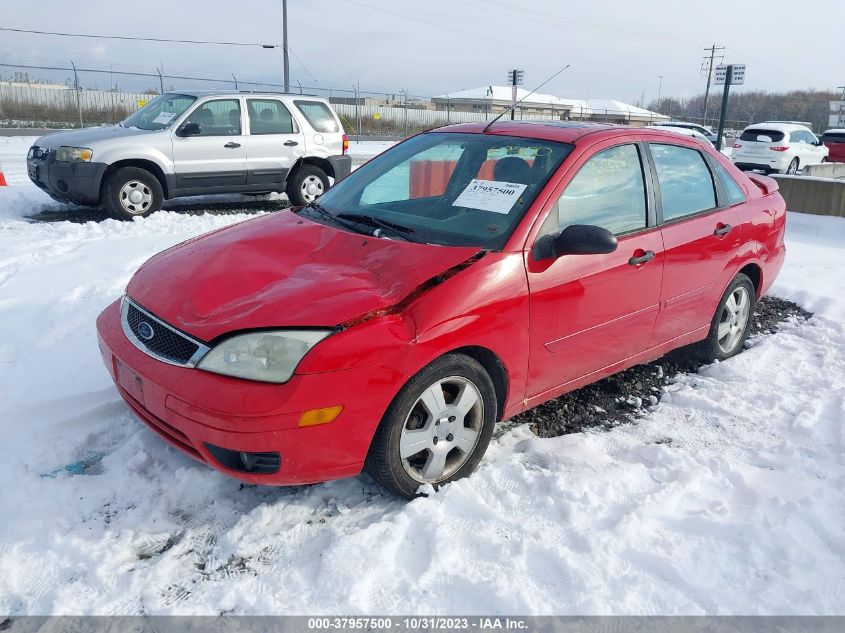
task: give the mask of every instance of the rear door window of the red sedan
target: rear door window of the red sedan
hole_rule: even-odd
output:
[[[649,143],[649,147],[660,183],[664,222],[716,207],[713,176],[698,150],[662,143]]]

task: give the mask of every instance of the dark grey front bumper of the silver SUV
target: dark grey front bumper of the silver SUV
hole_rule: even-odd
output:
[[[56,160],[50,151],[44,158],[26,160],[29,179],[59,202],[95,205],[100,201],[100,183],[105,163],[68,163]]]

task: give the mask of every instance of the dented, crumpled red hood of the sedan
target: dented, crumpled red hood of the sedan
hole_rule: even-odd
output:
[[[156,255],[127,294],[204,341],[243,329],[330,327],[398,303],[478,250],[375,238],[283,211]]]

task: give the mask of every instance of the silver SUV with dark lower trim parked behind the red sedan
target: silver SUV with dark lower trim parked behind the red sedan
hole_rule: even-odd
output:
[[[286,193],[313,202],[352,161],[325,99],[254,92],[169,92],[117,125],[50,134],[27,155],[54,199],[143,217],[170,198]]]

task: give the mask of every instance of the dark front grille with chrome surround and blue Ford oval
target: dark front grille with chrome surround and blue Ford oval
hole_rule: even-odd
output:
[[[182,334],[131,299],[124,298],[121,310],[123,331],[138,349],[173,365],[193,367],[208,347]]]

